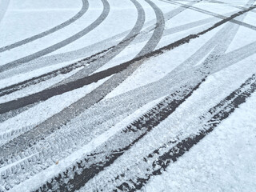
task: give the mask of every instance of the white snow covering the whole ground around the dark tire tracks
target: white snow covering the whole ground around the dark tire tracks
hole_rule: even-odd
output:
[[[136,0],[135,2],[138,2],[145,11],[145,22],[141,33],[118,55],[90,74],[96,74],[130,61],[146,46],[154,34],[154,29],[148,31],[148,27],[153,27],[156,22],[154,9],[148,3],[150,1],[162,10],[165,19],[171,10],[179,7],[179,3],[191,3],[191,1],[170,3],[166,0]],[[242,9],[238,6],[250,6],[246,5],[248,0],[220,1],[225,3],[202,1],[194,3],[193,6],[225,17],[241,11]],[[104,7],[101,0],[88,0],[88,2],[89,7],[86,13],[70,25],[22,46],[2,51],[0,69],[9,62],[15,62],[19,58],[66,41],[67,38],[74,37],[79,31],[90,26],[102,14]],[[14,69],[1,71],[0,89],[69,66],[122,41],[137,22],[138,10],[130,0],[107,0],[107,2],[110,4],[110,13],[84,36],[31,62],[18,63]],[[78,14],[81,8],[82,0],[10,0],[10,2],[0,0],[0,48],[58,26]],[[246,13],[243,19],[241,19],[242,16],[234,19],[256,26],[255,15],[254,9],[254,12]],[[198,34],[219,21],[221,18],[210,14],[203,14],[192,9],[183,10],[173,18],[165,20],[162,38],[159,39],[154,50],[190,37],[190,34]],[[222,30],[223,33],[221,33]],[[143,131],[143,127],[140,127],[141,130],[125,133],[123,130],[126,126],[131,122],[136,122],[142,114],[148,114],[170,94],[173,99],[180,101],[178,99],[185,97],[185,95],[179,95],[185,91],[184,87],[190,89],[190,86],[198,84],[203,77],[206,77],[198,89],[194,90],[185,101],[178,103],[177,109],[168,117],[154,125],[128,150],[122,151],[123,154],[113,163],[104,167],[88,182],[83,183],[81,189],[75,190],[92,191],[97,187],[98,190],[111,191],[122,182],[147,177],[152,166],[150,161],[154,160],[153,157],[149,162],[144,161],[148,158],[148,154],[167,142],[174,140],[179,142],[198,134],[205,125],[206,119],[212,115],[208,112],[210,108],[218,105],[230,93],[237,90],[246,79],[256,74],[254,67],[255,35],[254,29],[245,26],[238,27],[238,24],[234,22],[226,22],[206,34],[198,34],[196,38],[172,50],[162,51],[154,57],[143,58],[142,65],[138,66],[138,69],[128,78],[114,78],[114,81],[121,82],[117,87],[114,81],[111,84],[109,80],[118,75],[110,75],[99,79],[98,82],[55,95],[44,102],[34,103],[34,106],[20,113],[15,114],[14,111],[10,111],[12,115],[9,118],[4,119],[5,114],[0,114],[0,150],[3,149],[0,151],[3,156],[0,158],[0,191],[37,190],[38,187],[51,181],[51,178],[62,174],[68,167],[84,159],[87,154],[102,149],[106,150],[103,151],[106,153],[113,152],[111,149],[113,146],[121,149],[123,143],[130,143]],[[94,45],[94,43],[98,44]],[[76,54],[78,50],[81,52]],[[84,54],[81,54],[82,51]],[[57,54],[63,54],[63,61],[49,62],[54,61],[55,57],[57,59]],[[102,57],[102,55],[104,54],[99,54],[97,57]],[[91,65],[95,64],[91,63]],[[137,62],[132,63],[132,66],[134,64],[136,65]],[[5,102],[53,87],[82,69],[84,68],[79,67],[69,73],[58,74],[54,78],[3,95],[0,97],[0,107]],[[102,95],[105,97],[102,98]],[[31,140],[35,141],[34,145],[25,146],[23,152],[8,154],[9,148],[12,151],[14,147],[23,144],[13,142],[14,138],[26,135],[26,131],[43,124],[63,110],[72,108],[75,102],[85,96],[88,96],[86,98],[88,101],[84,101],[86,104],[89,103],[88,108],[79,112],[75,117],[74,114],[77,114],[75,110],[81,109],[69,110],[74,114],[66,114],[65,125],[53,130],[53,133],[47,134],[42,140],[37,140],[36,135],[34,138],[31,136]],[[96,98],[102,100],[96,101]],[[95,102],[90,103],[94,100]],[[166,170],[161,171],[162,174],[152,176],[140,190],[217,192],[256,189],[254,182],[256,180],[255,103],[256,93],[253,93],[202,141],[179,157],[177,162],[171,162]],[[155,113],[160,114],[162,111]],[[61,122],[60,119],[56,121]],[[79,134],[76,136],[77,140],[74,139],[75,134]],[[66,142],[60,142],[62,138],[66,138]],[[120,141],[120,138],[123,140]],[[10,146],[7,145],[8,142]],[[109,142],[113,142],[113,145],[109,145],[110,147],[107,145]],[[175,145],[171,143],[167,147]],[[43,150],[49,150],[55,154],[44,154]],[[164,153],[164,150],[161,153]],[[32,159],[37,157],[40,161]],[[58,164],[55,164],[54,161],[57,160]],[[102,164],[105,160],[101,159]],[[49,162],[52,162],[50,166]],[[39,169],[38,165],[44,165],[44,163],[48,163],[46,169]],[[95,163],[98,162],[95,160]],[[15,167],[20,165],[25,165],[22,167],[23,170],[15,170]],[[34,172],[37,168],[38,170]],[[126,176],[122,177],[124,173]],[[21,178],[22,182],[16,180],[17,178]],[[69,182],[69,179],[66,178],[66,182]],[[96,186],[95,183],[97,183]],[[58,186],[58,183],[53,184]]]

